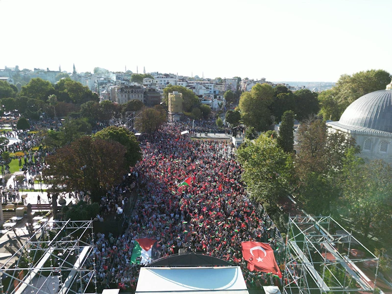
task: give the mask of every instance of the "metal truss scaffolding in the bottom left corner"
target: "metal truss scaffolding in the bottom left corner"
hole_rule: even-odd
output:
[[[94,240],[93,221],[44,223],[1,266],[0,294],[97,294],[89,240]]]

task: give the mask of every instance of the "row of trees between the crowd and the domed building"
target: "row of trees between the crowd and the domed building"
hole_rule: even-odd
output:
[[[309,213],[332,214],[365,238],[371,234],[390,241],[392,166],[365,164],[349,135],[328,132],[317,118],[300,125],[300,152],[294,154],[293,113],[286,112],[283,120],[278,137],[262,133],[238,150],[251,198],[276,208],[280,199],[294,195]]]

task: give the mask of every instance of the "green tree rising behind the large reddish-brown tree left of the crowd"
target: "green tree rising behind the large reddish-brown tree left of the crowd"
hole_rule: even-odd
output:
[[[137,161],[142,159],[142,152],[135,135],[123,127],[106,127],[98,131],[93,139],[112,140],[123,145],[126,148],[127,166],[134,166]]]

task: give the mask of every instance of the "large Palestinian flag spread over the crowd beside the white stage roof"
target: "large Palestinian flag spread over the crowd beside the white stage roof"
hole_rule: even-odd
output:
[[[137,239],[133,247],[131,263],[147,265],[161,257],[160,245],[156,240],[143,238]]]

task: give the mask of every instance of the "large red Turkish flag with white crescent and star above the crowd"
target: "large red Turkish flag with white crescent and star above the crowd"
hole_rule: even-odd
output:
[[[272,272],[282,277],[271,246],[267,243],[242,242],[242,256],[248,262],[248,270]]]

